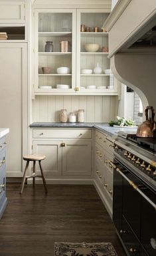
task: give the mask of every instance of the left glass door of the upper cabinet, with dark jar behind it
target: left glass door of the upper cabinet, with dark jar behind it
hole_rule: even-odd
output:
[[[76,9],[35,10],[35,94],[74,92]]]

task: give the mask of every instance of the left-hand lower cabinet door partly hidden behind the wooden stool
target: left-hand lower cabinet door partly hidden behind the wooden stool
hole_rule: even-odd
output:
[[[46,178],[62,174],[61,142],[60,140],[38,140],[33,142],[33,154],[43,154],[46,156],[46,159],[42,161],[42,168]],[[37,164],[37,172],[40,173],[39,164]]]

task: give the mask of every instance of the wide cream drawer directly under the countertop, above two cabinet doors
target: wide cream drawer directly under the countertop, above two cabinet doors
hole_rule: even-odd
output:
[[[80,138],[91,139],[92,130],[88,129],[34,129],[33,138]]]

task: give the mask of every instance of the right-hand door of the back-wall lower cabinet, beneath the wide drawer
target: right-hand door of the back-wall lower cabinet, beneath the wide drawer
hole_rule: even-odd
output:
[[[64,141],[62,147],[62,174],[71,176],[91,175],[92,142],[85,140]]]

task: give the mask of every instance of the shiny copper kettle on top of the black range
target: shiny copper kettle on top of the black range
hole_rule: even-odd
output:
[[[151,110],[151,117],[149,117],[149,112]],[[146,120],[139,125],[137,128],[137,137],[144,138],[156,138],[156,127],[155,127],[155,110],[153,106],[147,106],[145,109]]]

